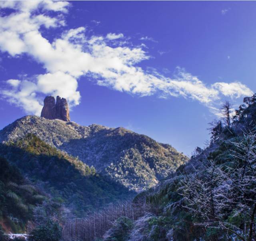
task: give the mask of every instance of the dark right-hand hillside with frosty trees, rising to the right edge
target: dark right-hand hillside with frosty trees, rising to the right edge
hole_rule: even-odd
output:
[[[222,108],[206,148],[145,193],[151,213],[118,219],[104,241],[255,241],[256,95]]]

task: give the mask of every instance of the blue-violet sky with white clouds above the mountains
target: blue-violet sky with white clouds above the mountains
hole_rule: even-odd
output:
[[[64,97],[71,121],[190,155],[256,88],[254,1],[0,1],[0,129]]]

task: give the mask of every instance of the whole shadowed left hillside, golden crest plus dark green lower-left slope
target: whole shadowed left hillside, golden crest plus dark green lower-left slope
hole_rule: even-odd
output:
[[[0,144],[0,161],[0,221],[13,232],[24,231],[27,221],[33,220],[34,207],[45,201],[62,208],[62,216],[82,217],[134,196],[94,167],[32,134]]]

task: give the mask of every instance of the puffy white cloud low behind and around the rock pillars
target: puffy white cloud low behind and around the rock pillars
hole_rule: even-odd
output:
[[[30,114],[40,115],[42,110],[42,101],[38,101],[36,93],[64,97],[68,99],[70,107],[79,104],[80,93],[76,91],[76,79],[62,72],[38,75],[34,81],[9,79],[6,82],[12,89],[3,90],[2,95]]]

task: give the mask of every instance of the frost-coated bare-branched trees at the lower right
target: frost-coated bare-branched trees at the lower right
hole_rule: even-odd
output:
[[[256,238],[256,134],[230,144],[229,162],[205,161],[204,172],[184,176],[179,192],[183,207],[198,220],[196,225],[252,241]]]

